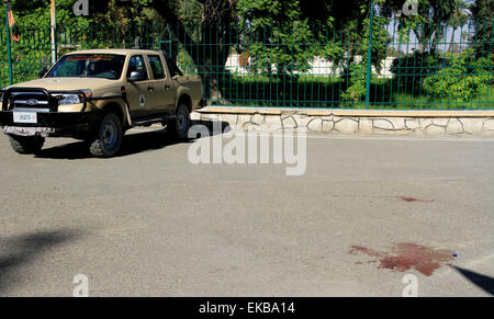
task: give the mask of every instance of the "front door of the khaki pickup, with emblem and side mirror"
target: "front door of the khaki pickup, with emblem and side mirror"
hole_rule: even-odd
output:
[[[128,82],[125,86],[127,102],[132,118],[146,117],[153,113],[153,81],[146,68],[146,62],[142,55],[132,56],[128,60],[126,77],[131,77],[133,71],[142,71],[145,79],[141,81]]]

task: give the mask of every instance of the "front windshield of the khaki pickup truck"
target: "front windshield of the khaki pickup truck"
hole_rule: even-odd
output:
[[[47,78],[102,78],[117,80],[125,56],[110,54],[67,55],[46,76]]]

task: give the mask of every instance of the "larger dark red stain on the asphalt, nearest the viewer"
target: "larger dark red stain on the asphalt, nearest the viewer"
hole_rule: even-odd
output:
[[[388,269],[398,272],[405,272],[415,269],[417,272],[430,276],[435,270],[441,266],[441,263],[452,260],[452,251],[434,249],[416,243],[402,242],[393,247],[392,253],[380,252],[361,246],[352,246],[349,253],[364,253],[377,258],[369,263],[379,261],[379,269]]]

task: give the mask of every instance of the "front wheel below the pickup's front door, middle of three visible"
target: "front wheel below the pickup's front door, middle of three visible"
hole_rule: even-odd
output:
[[[108,113],[101,119],[97,137],[91,141],[89,151],[97,158],[110,158],[116,155],[122,146],[123,130],[120,117]]]

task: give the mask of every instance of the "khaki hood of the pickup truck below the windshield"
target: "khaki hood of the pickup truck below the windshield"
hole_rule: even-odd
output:
[[[45,78],[14,84],[9,88],[41,88],[48,91],[101,90],[117,87],[117,80],[99,78]],[[7,89],[9,89],[7,88]]]

